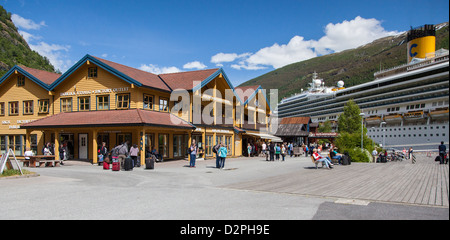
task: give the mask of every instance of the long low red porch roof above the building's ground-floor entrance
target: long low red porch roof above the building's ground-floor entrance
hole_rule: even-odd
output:
[[[109,126],[156,126],[187,129],[195,128],[193,125],[173,114],[142,109],[63,112],[30,123],[22,124],[20,127],[54,128]]]

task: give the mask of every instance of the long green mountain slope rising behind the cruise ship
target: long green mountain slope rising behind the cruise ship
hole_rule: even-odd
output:
[[[436,25],[436,50],[449,49],[448,22]],[[317,72],[326,86],[336,86],[343,80],[345,87],[372,81],[380,69],[405,64],[406,32],[385,37],[355,49],[333,53],[293,63],[261,75],[240,85],[261,85],[264,89],[278,89],[278,98],[289,97],[307,89],[312,74]]]

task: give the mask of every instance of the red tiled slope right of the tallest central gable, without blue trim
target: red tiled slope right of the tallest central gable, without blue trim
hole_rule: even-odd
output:
[[[117,71],[127,75],[130,78],[142,83],[144,86],[162,89],[165,91],[171,91],[171,89],[162,81],[158,75],[142,71],[136,68],[128,67],[119,63],[111,62],[105,59],[101,59],[99,57],[95,57],[97,60],[103,62],[104,64],[116,69]]]

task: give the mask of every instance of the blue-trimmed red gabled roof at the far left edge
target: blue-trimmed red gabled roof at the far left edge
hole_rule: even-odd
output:
[[[61,76],[61,74],[58,73],[52,73],[44,70],[25,67],[22,65],[16,65],[9,69],[9,71],[5,75],[3,75],[3,77],[0,79],[0,84],[2,84],[7,78],[9,78],[15,71],[23,74],[25,77],[35,82],[45,90],[50,90],[50,85]]]

